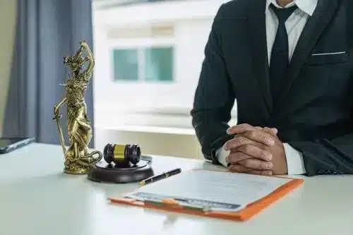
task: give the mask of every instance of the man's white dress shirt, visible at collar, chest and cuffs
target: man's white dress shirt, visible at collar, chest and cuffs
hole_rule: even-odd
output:
[[[270,8],[270,4],[275,5],[277,8],[281,8],[281,6],[277,4],[276,0],[266,0],[266,8],[264,10],[266,20],[266,36],[268,44],[269,63],[278,27],[277,16]],[[318,0],[294,0],[290,4],[287,4],[287,6],[285,6],[285,8],[294,5],[297,5],[298,7],[297,10],[295,10],[285,22],[289,41],[289,61],[290,59],[292,59],[292,55],[301,35],[301,31],[304,29],[304,25],[306,24],[308,18],[313,15],[317,4]],[[284,143],[284,147],[285,155],[287,157],[288,174],[305,174],[306,169],[304,167],[303,155],[301,154],[301,152],[295,150],[292,146],[287,143]],[[227,162],[225,161],[227,155],[229,155],[229,151],[225,151],[223,147],[220,147],[220,149],[218,149],[216,152],[218,161],[225,167],[227,167]]]

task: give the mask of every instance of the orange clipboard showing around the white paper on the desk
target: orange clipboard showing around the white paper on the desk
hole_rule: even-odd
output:
[[[276,188],[275,191],[261,198],[260,200],[256,200],[249,205],[246,205],[241,210],[237,212],[227,212],[227,211],[217,211],[217,210],[205,210],[204,207],[198,206],[185,206],[180,205],[177,200],[174,198],[163,198],[161,201],[155,200],[136,200],[133,198],[126,197],[111,197],[108,198],[111,203],[118,203],[124,205],[132,205],[136,207],[145,207],[154,210],[165,210],[169,212],[177,212],[182,214],[189,215],[198,215],[203,217],[213,217],[217,219],[228,219],[232,221],[246,221],[251,219],[251,217],[257,215],[259,212],[264,210],[269,205],[275,203],[277,200],[280,200],[285,195],[293,191],[295,188],[301,186],[304,182],[304,179],[294,179],[287,178],[282,176],[264,176],[264,177],[279,177],[284,179],[289,179],[289,181],[279,188]]]

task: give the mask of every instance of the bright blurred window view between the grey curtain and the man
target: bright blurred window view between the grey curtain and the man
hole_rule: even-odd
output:
[[[145,153],[203,159],[190,111],[224,2],[93,1],[97,147],[138,143]]]

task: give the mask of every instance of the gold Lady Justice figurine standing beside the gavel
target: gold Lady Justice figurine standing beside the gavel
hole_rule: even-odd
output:
[[[85,58],[82,56],[83,51],[86,54]],[[88,66],[83,68],[86,62],[88,62]],[[80,42],[80,48],[76,54],[64,57],[64,65],[70,68],[71,76],[64,84],[66,88],[64,99],[54,105],[53,117],[57,124],[61,147],[64,151],[64,172],[68,174],[88,174],[88,171],[102,159],[102,152],[97,150],[88,152],[88,144],[92,138],[92,128],[87,116],[85,90],[92,77],[95,60],[85,40]],[[59,120],[61,118],[59,109],[65,103],[67,104],[68,140],[70,142],[68,149],[65,146]]]

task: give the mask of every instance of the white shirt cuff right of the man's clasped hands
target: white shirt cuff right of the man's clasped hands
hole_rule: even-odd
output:
[[[304,167],[303,155],[291,145],[283,143],[285,147],[285,155],[287,157],[288,174],[298,175],[306,174]]]

